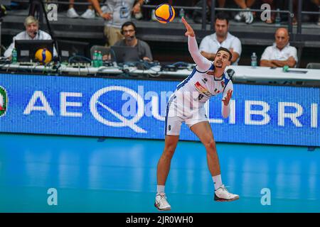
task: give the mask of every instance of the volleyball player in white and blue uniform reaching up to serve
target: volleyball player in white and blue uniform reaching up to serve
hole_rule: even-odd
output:
[[[239,199],[225,189],[220,175],[220,165],[215,140],[206,116],[205,103],[211,96],[223,94],[222,115],[227,118],[230,114],[230,99],[233,94],[231,82],[225,67],[230,65],[232,53],[226,48],[219,48],[215,60],[211,62],[203,57],[198,50],[193,28],[182,18],[188,36],[188,50],[196,62],[196,67],[183,80],[169,99],[166,108],[165,145],[157,165],[157,193],[154,206],[161,211],[170,210],[171,206],[166,199],[164,187],[168,177],[171,158],[178,143],[181,123],[185,122],[195,133],[206,148],[208,169],[212,175],[215,187],[215,201],[234,201]]]

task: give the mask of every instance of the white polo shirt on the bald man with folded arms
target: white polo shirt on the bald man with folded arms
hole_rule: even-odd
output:
[[[289,43],[282,49],[277,48],[277,44],[273,43],[269,47],[265,48],[265,51],[262,53],[261,60],[279,60],[285,61],[289,57],[294,57],[294,60],[298,62],[297,49],[292,47]]]

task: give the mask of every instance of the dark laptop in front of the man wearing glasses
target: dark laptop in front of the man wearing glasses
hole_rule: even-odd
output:
[[[112,46],[110,54],[111,60],[114,62],[137,62],[140,60],[137,48]]]

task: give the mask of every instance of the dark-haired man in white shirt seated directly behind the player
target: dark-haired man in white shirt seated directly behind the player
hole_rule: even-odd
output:
[[[215,53],[220,47],[227,48],[233,54],[232,65],[238,65],[241,55],[240,40],[228,33],[229,21],[225,13],[218,13],[215,17],[215,33],[207,35],[200,43],[201,55],[208,60],[215,59]]]

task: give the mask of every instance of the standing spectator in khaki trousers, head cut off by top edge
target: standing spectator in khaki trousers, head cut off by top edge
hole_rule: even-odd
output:
[[[105,37],[107,38],[106,46],[110,47],[122,40],[124,37],[121,33],[121,26],[127,21],[131,21],[131,14],[141,13],[141,6],[144,0],[107,0],[107,6],[100,8],[98,0],[91,0],[97,13],[105,18]]]

